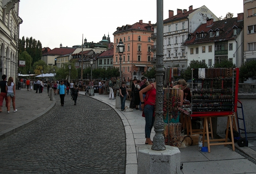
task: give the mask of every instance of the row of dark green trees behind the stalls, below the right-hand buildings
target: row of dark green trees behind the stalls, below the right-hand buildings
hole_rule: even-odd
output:
[[[179,65],[174,65],[173,67],[180,67]],[[229,60],[223,60],[220,63],[215,63],[210,68],[235,68],[236,65],[230,62]],[[240,68],[239,68],[239,80],[240,81],[246,81],[249,78],[256,79],[256,60],[249,60],[245,62]],[[188,65],[187,69],[181,73],[181,76],[174,77],[175,79],[185,79],[190,80],[192,77],[192,68],[208,68],[206,63],[203,63],[202,61],[191,61],[191,63]],[[145,74],[146,77],[149,79],[155,78],[155,68],[152,68],[150,71],[147,71]]]

